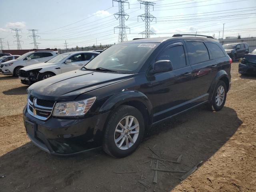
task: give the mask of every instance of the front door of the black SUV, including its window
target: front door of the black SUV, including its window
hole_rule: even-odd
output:
[[[158,54],[155,62],[158,60],[170,60],[173,70],[155,74],[152,80],[154,122],[184,110],[185,103],[192,99],[192,68],[186,58],[184,41],[170,42]]]

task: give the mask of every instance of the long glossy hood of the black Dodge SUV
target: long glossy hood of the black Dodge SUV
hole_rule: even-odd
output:
[[[131,78],[133,74],[74,70],[36,82],[28,88],[44,100],[72,101],[78,95]]]

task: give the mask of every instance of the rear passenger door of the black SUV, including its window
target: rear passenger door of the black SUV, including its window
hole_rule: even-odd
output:
[[[192,67],[190,94],[197,102],[208,99],[208,90],[217,74],[218,65],[210,58],[208,48],[202,40],[186,40],[188,58]]]

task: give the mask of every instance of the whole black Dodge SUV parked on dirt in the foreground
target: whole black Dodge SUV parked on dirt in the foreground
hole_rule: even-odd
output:
[[[218,40],[176,34],[111,46],[80,70],[28,88],[24,125],[36,146],[124,157],[152,125],[208,103],[221,110],[230,64]]]

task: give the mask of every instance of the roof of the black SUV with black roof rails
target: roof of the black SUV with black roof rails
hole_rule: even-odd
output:
[[[162,43],[166,41],[172,41],[172,40],[208,40],[208,41],[214,41],[218,42],[217,39],[214,38],[206,38],[206,37],[198,37],[198,36],[178,36],[178,37],[155,37],[155,38],[138,38],[131,41],[122,42],[120,44],[126,44],[126,43]]]

